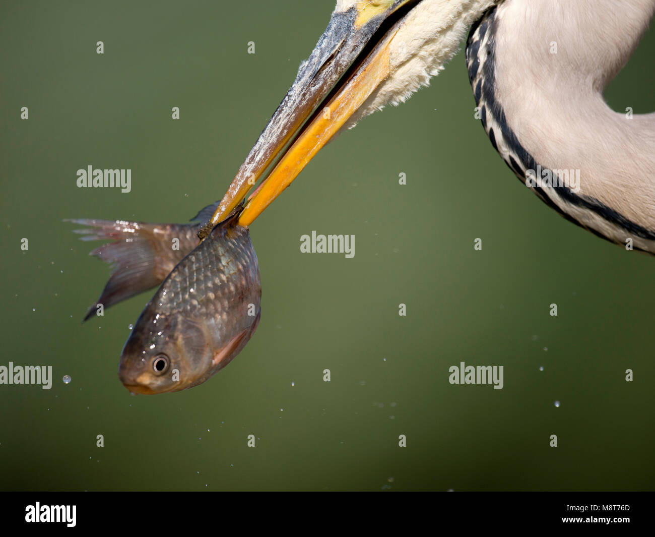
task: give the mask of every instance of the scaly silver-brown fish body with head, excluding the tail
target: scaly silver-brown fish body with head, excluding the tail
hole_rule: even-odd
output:
[[[236,216],[215,226],[166,277],[121,353],[133,393],[202,384],[240,351],[259,323],[261,281],[248,228]]]

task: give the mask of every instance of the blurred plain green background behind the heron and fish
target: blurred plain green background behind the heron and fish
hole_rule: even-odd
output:
[[[0,386],[1,489],[654,487],[655,259],[519,184],[474,119],[463,52],[320,151],[253,224],[261,323],[229,367],[170,395],[121,386],[152,292],[81,325],[108,269],[62,219],[185,222],[218,199],[332,9],[0,5],[0,365],[54,374],[50,390]],[[654,56],[651,30],[612,108],[655,109]],[[88,165],[132,169],[132,191],[77,188]],[[312,230],[355,235],[354,258],[301,254]],[[504,388],[449,384],[460,361],[504,366]]]

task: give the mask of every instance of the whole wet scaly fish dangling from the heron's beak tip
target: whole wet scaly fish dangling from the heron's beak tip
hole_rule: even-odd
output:
[[[160,285],[121,351],[119,378],[132,393],[202,384],[240,353],[259,325],[261,276],[250,231],[238,224],[242,206],[198,244],[200,222],[216,207],[200,210],[191,224],[69,220],[88,226],[75,230],[83,240],[113,239],[90,252],[113,270],[84,320],[100,305]]]

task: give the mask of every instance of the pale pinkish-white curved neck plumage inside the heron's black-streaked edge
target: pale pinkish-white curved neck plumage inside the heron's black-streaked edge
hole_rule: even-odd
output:
[[[614,0],[506,0],[496,12],[496,98],[517,139],[544,168],[580,170],[578,195],[648,229],[655,114],[628,119],[603,90],[654,10],[655,0],[624,0],[620,9]]]

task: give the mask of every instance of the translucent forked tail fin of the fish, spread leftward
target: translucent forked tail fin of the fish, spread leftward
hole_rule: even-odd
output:
[[[98,311],[118,304],[140,292],[156,287],[196,245],[198,239],[191,224],[145,224],[123,220],[64,220],[87,226],[74,229],[83,241],[113,241],[92,252],[111,265],[111,275],[100,294],[84,316],[84,321]],[[174,247],[174,239],[178,239]],[[84,322],[83,321],[83,322]]]

